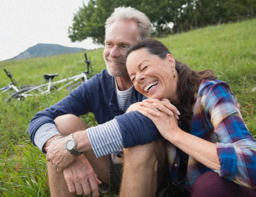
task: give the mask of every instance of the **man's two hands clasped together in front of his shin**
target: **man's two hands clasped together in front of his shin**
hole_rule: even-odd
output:
[[[98,185],[101,181],[84,155],[74,157],[64,148],[66,138],[60,138],[46,148],[46,160],[51,162],[59,173],[63,172],[71,193],[76,192],[78,195],[92,193],[93,197],[99,196]]]

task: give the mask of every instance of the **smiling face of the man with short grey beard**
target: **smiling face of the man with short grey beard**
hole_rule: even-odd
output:
[[[107,72],[113,77],[127,74],[127,49],[139,39],[138,25],[134,21],[116,21],[106,31],[103,57]]]

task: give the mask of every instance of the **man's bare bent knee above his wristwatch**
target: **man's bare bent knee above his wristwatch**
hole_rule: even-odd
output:
[[[58,131],[63,136],[89,128],[81,119],[72,114],[58,116],[54,121]]]

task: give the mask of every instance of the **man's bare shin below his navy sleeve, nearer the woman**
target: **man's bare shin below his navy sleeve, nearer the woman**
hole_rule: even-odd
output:
[[[158,139],[151,144],[124,149],[125,165],[120,196],[155,196],[156,186],[166,186],[166,152]]]

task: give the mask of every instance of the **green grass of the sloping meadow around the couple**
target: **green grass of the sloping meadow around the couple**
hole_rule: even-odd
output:
[[[159,39],[174,58],[193,69],[211,68],[227,81],[241,108],[251,134],[256,137],[256,20],[209,26],[192,32]],[[103,49],[88,51],[91,76],[105,68]],[[86,70],[83,53],[56,55],[19,61],[0,62],[0,87],[9,83],[6,68],[19,86],[44,83],[45,73],[58,73],[58,79]],[[28,124],[34,114],[68,95],[60,91],[30,97],[22,102],[5,103],[0,93],[0,196],[49,196],[45,155],[30,142]],[[83,116],[89,125],[97,122],[92,114]],[[117,193],[102,195],[118,196]]]

